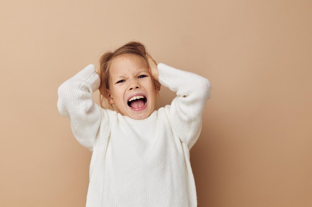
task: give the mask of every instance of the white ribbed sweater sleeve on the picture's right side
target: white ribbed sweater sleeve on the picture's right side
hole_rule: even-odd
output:
[[[210,98],[209,81],[197,74],[158,64],[159,82],[176,92],[166,110],[177,136],[190,149],[198,139],[202,126],[202,112]]]

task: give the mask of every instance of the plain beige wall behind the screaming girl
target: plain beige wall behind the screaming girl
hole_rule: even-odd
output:
[[[211,81],[199,207],[312,206],[311,0],[1,0],[0,27],[1,207],[84,207],[91,153],[57,88],[130,40]]]

